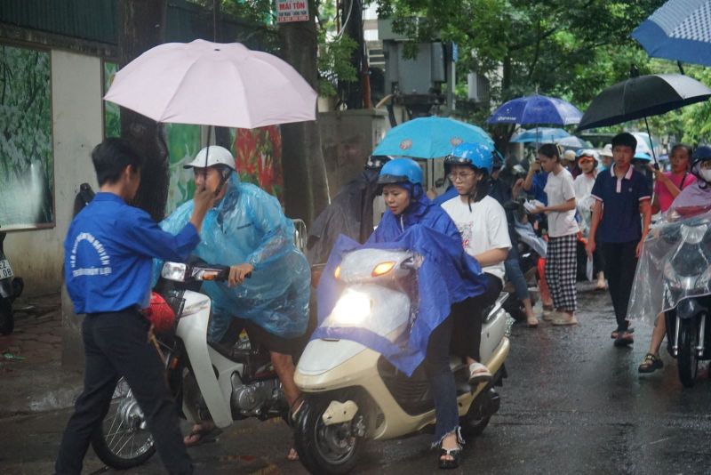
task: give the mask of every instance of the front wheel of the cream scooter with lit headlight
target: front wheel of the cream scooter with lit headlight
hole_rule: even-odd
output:
[[[301,463],[316,474],[340,475],[356,467],[363,449],[363,437],[353,436],[353,424],[325,425],[322,415],[332,399],[308,398],[297,416],[294,428],[294,447]]]

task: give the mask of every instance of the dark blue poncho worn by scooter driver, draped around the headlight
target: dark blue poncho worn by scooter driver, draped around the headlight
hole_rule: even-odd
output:
[[[359,342],[411,375],[425,358],[429,335],[450,315],[451,304],[483,294],[486,278],[479,262],[465,252],[456,226],[441,207],[431,205],[424,197],[401,216],[402,221],[388,210],[376,232],[363,246],[345,236],[336,241],[319,282],[319,327],[311,338],[343,338]],[[404,230],[401,223],[404,223]],[[364,328],[321,326],[344,288],[333,277],[336,267],[345,254],[362,247],[406,249],[423,258],[417,273],[418,295],[411,296],[418,299],[418,312],[410,334],[405,335],[403,341],[389,342]]]

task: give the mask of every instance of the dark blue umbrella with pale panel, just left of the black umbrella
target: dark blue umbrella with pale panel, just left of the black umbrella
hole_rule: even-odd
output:
[[[582,112],[570,102],[535,94],[506,102],[486,119],[486,123],[571,125],[578,124],[582,117]]]

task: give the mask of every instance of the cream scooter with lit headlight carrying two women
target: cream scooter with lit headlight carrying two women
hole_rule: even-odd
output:
[[[416,262],[410,251],[366,248],[347,254],[336,270],[345,289],[321,326],[352,326],[389,342],[402,341],[416,307],[411,298]],[[470,386],[467,365],[451,358],[465,437],[482,433],[499,409],[495,387],[507,375],[509,351],[502,308],[506,298],[505,293],[499,296],[483,323],[481,357],[493,375],[491,382]],[[311,340],[294,381],[304,398],[295,415],[294,442],[301,463],[312,473],[347,473],[356,467],[367,440],[403,438],[431,431],[435,423],[423,367],[408,377],[359,342]]]

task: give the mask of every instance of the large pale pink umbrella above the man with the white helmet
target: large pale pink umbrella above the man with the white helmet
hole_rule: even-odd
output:
[[[316,120],[316,92],[296,69],[239,43],[167,43],[116,73],[104,96],[156,122],[253,129]]]

